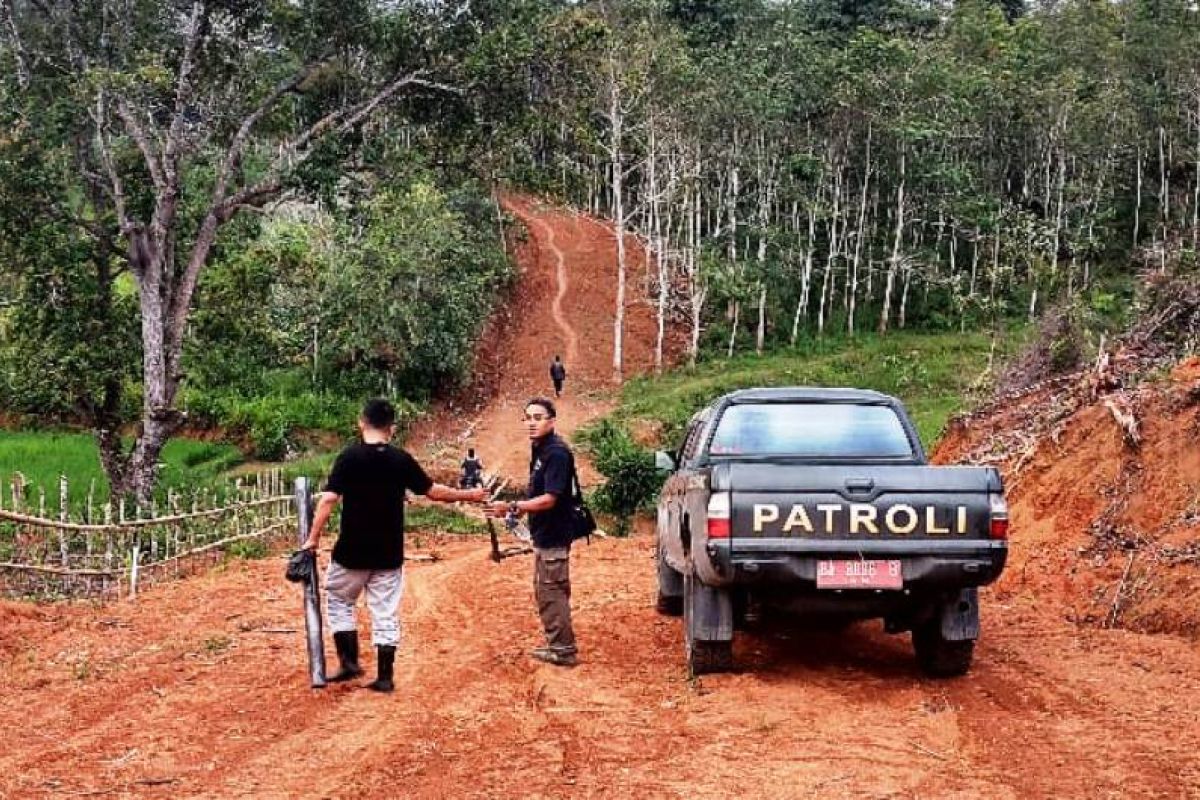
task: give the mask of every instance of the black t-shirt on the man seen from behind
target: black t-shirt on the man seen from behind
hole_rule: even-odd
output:
[[[425,494],[433,481],[403,450],[350,445],[334,462],[326,492],[342,495],[342,533],[334,560],[347,570],[396,570],[404,564],[404,492]]]

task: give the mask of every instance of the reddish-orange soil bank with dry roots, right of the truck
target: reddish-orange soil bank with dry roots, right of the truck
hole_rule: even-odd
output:
[[[1126,383],[1098,365],[1000,398],[955,420],[934,459],[1004,475],[1013,547],[1001,596],[1198,637],[1200,359]]]

